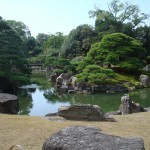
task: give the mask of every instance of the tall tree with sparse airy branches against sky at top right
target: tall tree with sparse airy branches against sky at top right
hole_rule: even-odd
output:
[[[95,7],[94,11],[89,12],[90,17],[96,17],[95,29],[100,37],[108,33],[126,32],[126,27],[132,31],[138,25],[144,23],[149,15],[141,12],[137,5],[130,5],[128,2],[112,0],[108,4],[108,11]],[[125,25],[125,27],[124,27]]]

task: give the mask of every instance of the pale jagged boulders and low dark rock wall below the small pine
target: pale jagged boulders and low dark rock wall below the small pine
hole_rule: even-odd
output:
[[[57,89],[65,91],[78,91],[83,93],[117,93],[117,92],[128,92],[128,89],[124,86],[117,84],[105,84],[105,85],[93,85],[90,86],[86,82],[77,83],[77,78],[75,76],[69,76],[68,74],[62,73],[56,79]]]

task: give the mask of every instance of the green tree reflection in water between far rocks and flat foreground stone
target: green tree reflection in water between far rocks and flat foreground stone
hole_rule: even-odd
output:
[[[47,90],[44,92],[44,97],[48,102],[69,102],[70,104],[92,104],[99,105],[104,111],[118,110],[122,94],[68,94],[63,91]]]

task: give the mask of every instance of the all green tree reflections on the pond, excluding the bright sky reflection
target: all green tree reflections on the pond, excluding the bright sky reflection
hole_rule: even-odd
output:
[[[121,97],[124,93],[118,94],[68,94],[64,91],[56,91],[55,86],[48,83],[47,80],[41,78],[40,80],[43,84],[32,85],[28,89],[22,89],[19,94],[19,102],[20,102],[20,113],[19,114],[29,114],[31,109],[33,108],[33,100],[31,97],[31,93],[36,91],[38,88],[40,91],[44,91],[44,97],[48,103],[70,103],[70,104],[92,104],[99,105],[107,111],[115,111],[119,108]],[[46,83],[44,85],[44,83]],[[32,88],[31,88],[32,87]],[[150,106],[150,88],[136,90],[134,92],[129,93],[131,99],[137,103],[140,103],[143,107]],[[54,105],[55,107],[55,105]]]

